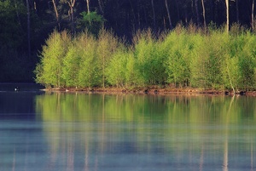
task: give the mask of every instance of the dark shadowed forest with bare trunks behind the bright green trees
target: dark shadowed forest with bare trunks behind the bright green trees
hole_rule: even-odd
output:
[[[157,36],[177,24],[222,27],[239,23],[254,31],[254,0],[0,0],[0,82],[32,82],[49,34],[104,26],[127,42],[151,28]]]

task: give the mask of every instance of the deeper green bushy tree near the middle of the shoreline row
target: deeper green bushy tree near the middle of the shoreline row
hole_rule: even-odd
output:
[[[138,86],[148,86],[163,83],[164,56],[161,54],[160,43],[157,43],[152,31],[137,32],[134,37],[135,67],[139,72],[137,75]]]

